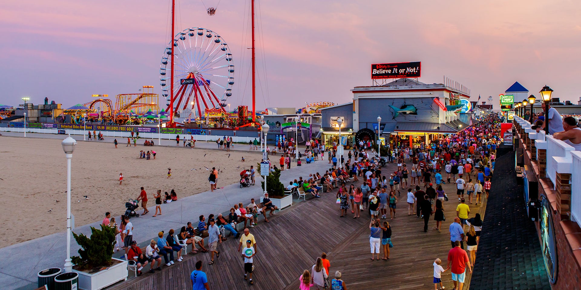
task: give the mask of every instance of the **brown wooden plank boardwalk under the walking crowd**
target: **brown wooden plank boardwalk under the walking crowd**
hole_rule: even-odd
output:
[[[393,169],[394,165],[390,164],[382,169],[382,173],[388,175]],[[360,184],[356,183],[356,186]],[[454,198],[455,188],[455,184],[444,187],[450,201],[444,202],[446,221],[442,224],[441,233],[432,230],[435,226],[433,220],[430,220],[428,233],[424,233],[423,220],[407,215],[405,193],[402,191],[397,204],[397,218],[388,218],[394,244],[389,260],[370,259],[370,216],[362,212],[360,219],[353,219],[349,212],[346,218],[339,218],[335,190],[321,198],[299,202],[272,216],[270,223],[260,221],[258,226],[250,228],[258,246],[258,253],[254,256],[252,286],[243,280],[243,260],[236,251],[238,239],[229,237],[228,241],[218,245],[221,254],[213,265],[208,265],[209,253],[185,255],[184,261],[176,262],[171,267],[163,266],[163,270],[155,274],[144,273],[133,278],[131,272],[128,281],[109,289],[191,289],[189,275],[195,270],[198,260],[203,262],[202,270],[208,276],[210,289],[297,289],[300,274],[311,268],[321,252],[327,252],[331,260],[331,278],[336,270],[342,271],[349,290],[433,289],[433,260],[442,259],[444,268],[447,263],[450,249],[448,227],[456,216],[458,204],[457,198]],[[480,204],[472,204],[470,209],[470,217],[476,212],[482,214]],[[146,269],[149,270],[149,266]],[[449,271],[443,274],[442,280],[446,288],[453,288]]]

